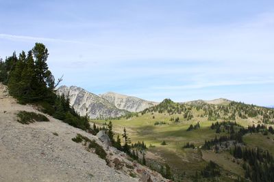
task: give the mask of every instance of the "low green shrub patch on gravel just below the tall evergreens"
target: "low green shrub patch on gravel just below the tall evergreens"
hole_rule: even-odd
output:
[[[17,121],[22,124],[34,123],[35,121],[49,121],[45,115],[36,114],[35,112],[19,111]]]

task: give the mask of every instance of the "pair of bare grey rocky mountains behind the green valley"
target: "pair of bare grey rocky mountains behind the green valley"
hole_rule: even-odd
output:
[[[119,93],[108,92],[96,95],[75,86],[61,86],[56,93],[69,96],[71,106],[80,115],[88,115],[90,119],[121,117],[129,112],[140,112],[158,104]]]

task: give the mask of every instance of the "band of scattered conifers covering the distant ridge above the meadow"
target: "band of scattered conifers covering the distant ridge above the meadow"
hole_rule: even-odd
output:
[[[183,115],[184,119],[190,120],[194,110],[203,110],[199,117],[208,117],[208,121],[216,121],[224,119],[226,121],[236,121],[236,117],[247,119],[248,117],[257,117],[262,123],[274,122],[274,109],[244,104],[241,102],[230,102],[229,104],[206,104],[199,102],[198,104],[179,104],[170,99],[163,100],[157,106],[152,106],[141,112],[142,115],[148,112],[168,112],[169,115]]]

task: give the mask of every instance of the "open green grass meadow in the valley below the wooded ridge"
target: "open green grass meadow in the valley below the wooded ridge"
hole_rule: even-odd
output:
[[[194,118],[189,121],[183,119],[183,115],[169,115],[168,113],[158,112],[154,112],[153,114],[146,113],[144,115],[138,113],[138,117],[114,119],[111,121],[116,134],[120,134],[121,136],[123,127],[126,127],[132,142],[144,141],[147,146],[153,146],[149,147],[147,150],[158,155],[160,157],[159,162],[169,164],[174,174],[186,172],[189,177],[195,175],[197,170],[202,170],[206,166],[208,160],[203,159],[199,149],[183,149],[182,147],[187,142],[191,142],[195,147],[199,148],[204,144],[205,140],[211,140],[215,136],[224,134],[216,134],[215,130],[210,129],[212,123],[215,123],[216,121],[221,122],[223,120],[217,119],[216,121],[208,121],[208,117],[198,117],[202,112],[202,110],[193,112]],[[170,121],[171,117],[179,117],[179,123]],[[154,125],[156,121],[166,122],[166,125]],[[248,119],[236,118],[236,122],[245,127],[249,125],[248,121]],[[92,122],[97,123],[98,125],[108,123],[108,121],[105,120],[92,120]],[[190,124],[193,125],[197,122],[200,124],[198,130],[186,131]],[[245,140],[248,141],[249,138],[246,138]],[[251,138],[250,140],[250,143],[252,143],[253,139]],[[167,145],[161,145],[163,141],[165,141]],[[218,157],[221,157],[221,160],[218,161]],[[238,170],[238,164],[227,162],[225,157],[226,155],[218,155],[216,153],[210,154],[210,160],[214,160],[219,166],[224,167],[225,173],[242,176],[243,172],[242,170]],[[225,164],[226,162],[227,164]],[[231,170],[228,170],[229,167],[232,167]]]

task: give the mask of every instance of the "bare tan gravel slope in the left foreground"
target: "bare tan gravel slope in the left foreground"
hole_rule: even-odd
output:
[[[0,181],[167,181],[96,136],[49,115],[49,122],[18,123],[19,110],[45,115],[17,104],[0,85]],[[84,143],[73,142],[77,134],[101,145],[108,164]]]

